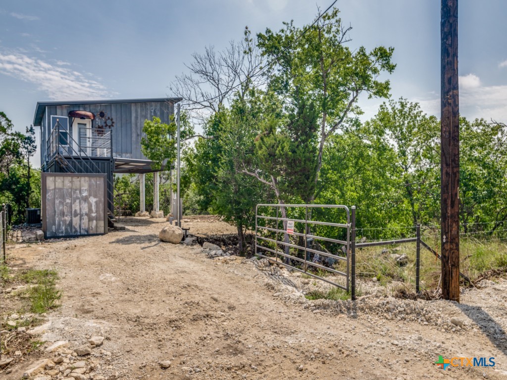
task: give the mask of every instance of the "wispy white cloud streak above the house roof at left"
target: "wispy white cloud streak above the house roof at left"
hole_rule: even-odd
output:
[[[52,100],[89,100],[112,95],[89,75],[20,53],[0,53],[0,73],[33,83]]]

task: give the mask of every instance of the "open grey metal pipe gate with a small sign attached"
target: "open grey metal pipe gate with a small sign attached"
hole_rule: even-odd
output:
[[[259,213],[260,208],[266,208],[267,210],[270,210],[268,212],[269,215],[263,215]],[[346,221],[342,223],[337,222],[328,222],[328,221],[322,221],[322,220],[311,220],[312,210],[316,208],[327,208],[327,209],[343,209],[346,213]],[[289,218],[289,217],[282,217],[280,216],[280,211],[282,212],[282,215],[286,215],[287,210],[291,209],[304,209],[304,219],[301,218]],[[352,214],[355,216],[355,207],[352,206]],[[269,256],[268,254],[274,254],[274,259],[279,264],[284,265],[287,268],[291,268],[292,270],[296,270],[302,273],[305,273],[308,276],[317,278],[319,280],[325,281],[327,283],[330,283],[332,285],[335,285],[343,290],[351,291],[352,299],[355,298],[355,262],[354,262],[354,249],[353,249],[353,243],[350,239],[351,232],[355,230],[355,228],[352,228],[352,223],[350,221],[351,214],[349,211],[349,208],[344,205],[298,205],[298,204],[289,204],[289,205],[281,205],[281,204],[258,204],[256,207],[256,234],[255,234],[255,253],[259,257],[264,257],[268,259],[273,259],[273,256]],[[264,220],[264,225],[261,225],[259,223],[260,220]],[[280,221],[282,221],[282,229],[279,228]],[[275,222],[276,224],[273,226],[268,226],[266,223]],[[294,229],[295,223],[300,223],[300,225],[304,225],[304,233],[297,232]],[[318,236],[315,234],[309,233],[309,227],[313,225],[322,225],[322,226],[330,226],[335,227],[337,229],[345,229],[346,230],[346,239],[345,240],[339,240],[339,239],[333,239],[325,236]],[[273,237],[266,237],[262,236],[260,233],[263,232],[271,232],[274,233],[274,239]],[[355,231],[354,231],[355,232]],[[278,234],[283,235],[283,239],[278,239]],[[289,235],[294,235],[297,237],[302,237],[304,239],[304,244],[299,245],[295,244],[294,242],[290,242],[287,237]],[[336,243],[336,244],[342,244],[342,248],[345,248],[345,251],[343,252],[345,256],[338,255],[335,253],[331,253],[328,251],[324,251],[322,249],[314,249],[313,247],[309,246],[309,242],[313,242],[315,240],[321,240],[328,243]],[[261,245],[264,244],[264,245]],[[267,245],[271,245],[271,247],[268,247]],[[285,248],[283,250],[279,249],[279,246],[288,247],[288,250]],[[298,257],[296,255],[290,254],[290,248],[296,249],[297,251],[303,251],[304,255],[303,258]],[[285,250],[285,252],[284,252]],[[289,252],[289,253],[286,253]],[[336,270],[331,265],[331,267],[326,267],[325,265],[319,263],[318,261],[312,259],[309,259],[309,254],[313,254],[313,258],[316,257],[316,255],[323,256],[326,258],[331,259],[331,262],[345,262],[346,270],[345,272]],[[284,260],[278,260],[279,256],[283,257]],[[308,269],[310,267],[316,268],[317,270],[323,270],[330,272],[334,275],[339,275],[345,277],[345,284],[342,285],[339,283],[336,283],[334,281],[331,281],[325,277],[319,276],[318,274],[309,272]],[[352,276],[349,276],[350,274],[350,267],[352,267]]]

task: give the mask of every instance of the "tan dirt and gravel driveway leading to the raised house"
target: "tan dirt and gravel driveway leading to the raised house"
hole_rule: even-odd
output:
[[[505,280],[465,292],[465,309],[444,301],[423,305],[460,318],[464,326],[455,331],[408,317],[320,310],[284,298],[297,289],[251,260],[209,259],[200,246],[160,242],[161,223],[130,218],[126,231],[11,251],[24,265],[55,268],[61,276],[62,307],[49,315],[45,340],[77,347],[90,336],[106,337],[89,359],[95,376],[507,378]],[[198,232],[199,222],[193,223]],[[496,365],[443,371],[434,364],[439,355],[495,357]],[[170,367],[161,369],[167,360]],[[19,364],[5,378],[19,379],[27,367]]]

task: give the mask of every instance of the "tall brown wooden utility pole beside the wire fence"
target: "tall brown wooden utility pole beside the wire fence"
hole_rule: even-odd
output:
[[[442,296],[459,302],[458,0],[442,0],[440,31]]]

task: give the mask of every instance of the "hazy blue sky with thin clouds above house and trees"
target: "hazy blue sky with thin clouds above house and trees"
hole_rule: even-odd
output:
[[[283,21],[311,23],[332,0],[3,0],[0,111],[15,129],[38,101],[157,98],[191,54]],[[339,0],[350,47],[394,47],[391,96],[440,116],[440,0]],[[459,0],[460,112],[507,122],[507,1]],[[383,100],[365,98],[363,119]],[[39,128],[36,129],[39,138]],[[38,140],[39,143],[39,140]],[[34,165],[40,165],[35,153]]]

